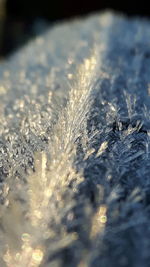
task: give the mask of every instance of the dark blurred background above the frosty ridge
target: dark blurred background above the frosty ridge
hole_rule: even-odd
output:
[[[0,0],[0,57],[5,58],[55,21],[105,9],[149,16],[148,6],[144,1]]]

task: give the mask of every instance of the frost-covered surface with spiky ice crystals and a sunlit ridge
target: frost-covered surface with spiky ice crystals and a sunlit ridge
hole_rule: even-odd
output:
[[[0,65],[0,266],[149,266],[150,22],[56,25]]]

